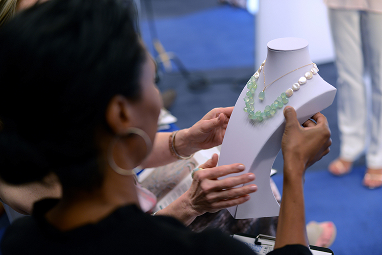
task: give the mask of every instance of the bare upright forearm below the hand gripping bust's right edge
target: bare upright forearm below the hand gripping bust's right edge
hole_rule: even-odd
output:
[[[294,174],[303,171],[292,169],[303,168],[303,166],[302,164],[297,166],[284,165],[284,168],[288,167],[290,169],[284,169],[283,198],[277,223],[275,248],[288,244],[309,245],[305,227],[303,176]],[[288,172],[292,172],[292,174]]]

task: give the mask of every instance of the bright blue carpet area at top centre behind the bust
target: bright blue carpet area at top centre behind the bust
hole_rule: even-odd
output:
[[[254,18],[243,9],[219,6],[186,16],[155,19],[158,37],[189,70],[253,66]],[[152,50],[147,21],[141,22]]]

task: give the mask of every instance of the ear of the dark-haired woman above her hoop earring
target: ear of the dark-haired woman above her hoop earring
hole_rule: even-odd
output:
[[[106,122],[115,134],[122,134],[131,126],[129,101],[122,95],[115,95],[106,108]]]

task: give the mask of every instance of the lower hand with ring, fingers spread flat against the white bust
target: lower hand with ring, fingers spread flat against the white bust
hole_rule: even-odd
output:
[[[206,163],[199,166],[202,168],[194,173],[193,182],[186,192],[188,207],[195,216],[206,212],[214,213],[221,209],[237,206],[249,200],[249,193],[257,190],[256,185],[235,186],[249,183],[255,179],[253,173],[245,173],[235,177],[218,180],[218,177],[230,173],[238,173],[244,170],[242,164],[232,164],[216,167],[217,154]]]

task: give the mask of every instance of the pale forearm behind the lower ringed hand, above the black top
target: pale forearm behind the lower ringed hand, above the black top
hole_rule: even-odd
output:
[[[156,215],[173,217],[181,221],[186,226],[191,224],[191,222],[194,221],[194,219],[200,214],[192,209],[189,199],[187,199],[186,193],[170,203],[170,205],[168,205],[166,208],[158,211]]]

